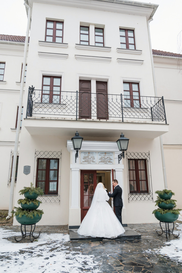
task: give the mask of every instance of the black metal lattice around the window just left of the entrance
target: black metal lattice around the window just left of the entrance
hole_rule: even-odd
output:
[[[47,151],[36,151],[35,150],[35,164],[34,164],[34,185],[36,183],[36,170],[37,170],[37,159],[38,158],[57,158],[59,159],[59,174],[61,168],[61,152],[47,152]],[[38,197],[38,200],[42,203],[60,203],[60,176],[58,177],[58,194],[44,194]]]

